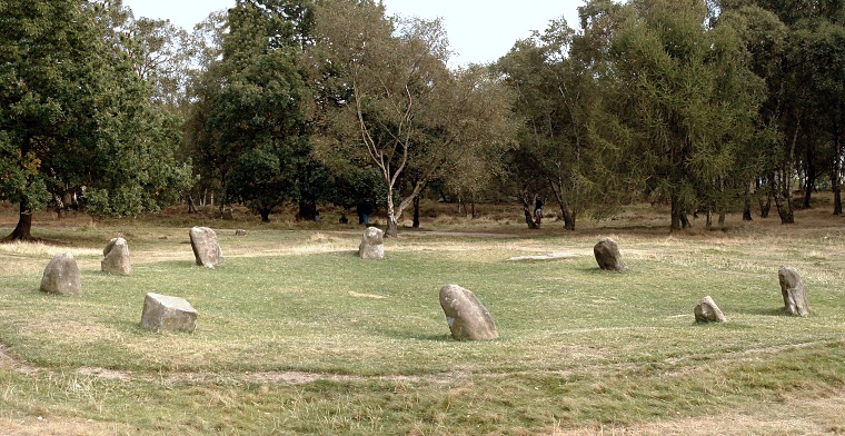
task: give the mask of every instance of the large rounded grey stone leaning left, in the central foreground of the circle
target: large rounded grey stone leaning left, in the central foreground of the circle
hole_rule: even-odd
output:
[[[496,339],[499,331],[489,310],[471,290],[458,285],[440,289],[440,307],[446,314],[451,337],[456,340]]]

